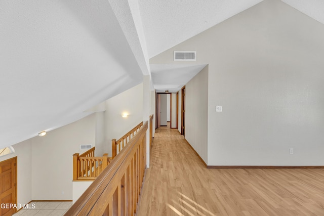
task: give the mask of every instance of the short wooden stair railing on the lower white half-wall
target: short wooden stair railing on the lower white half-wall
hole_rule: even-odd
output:
[[[95,147],[83,154],[73,154],[73,181],[93,181],[110,162],[108,154],[95,157]]]

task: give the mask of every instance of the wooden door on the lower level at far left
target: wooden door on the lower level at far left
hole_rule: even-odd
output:
[[[17,204],[17,157],[0,162],[1,203]],[[0,208],[0,215],[7,216],[16,212],[13,206]]]

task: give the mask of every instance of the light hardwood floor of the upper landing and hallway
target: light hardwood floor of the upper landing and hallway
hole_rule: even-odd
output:
[[[324,169],[207,169],[166,126],[150,157],[138,216],[324,215]]]

